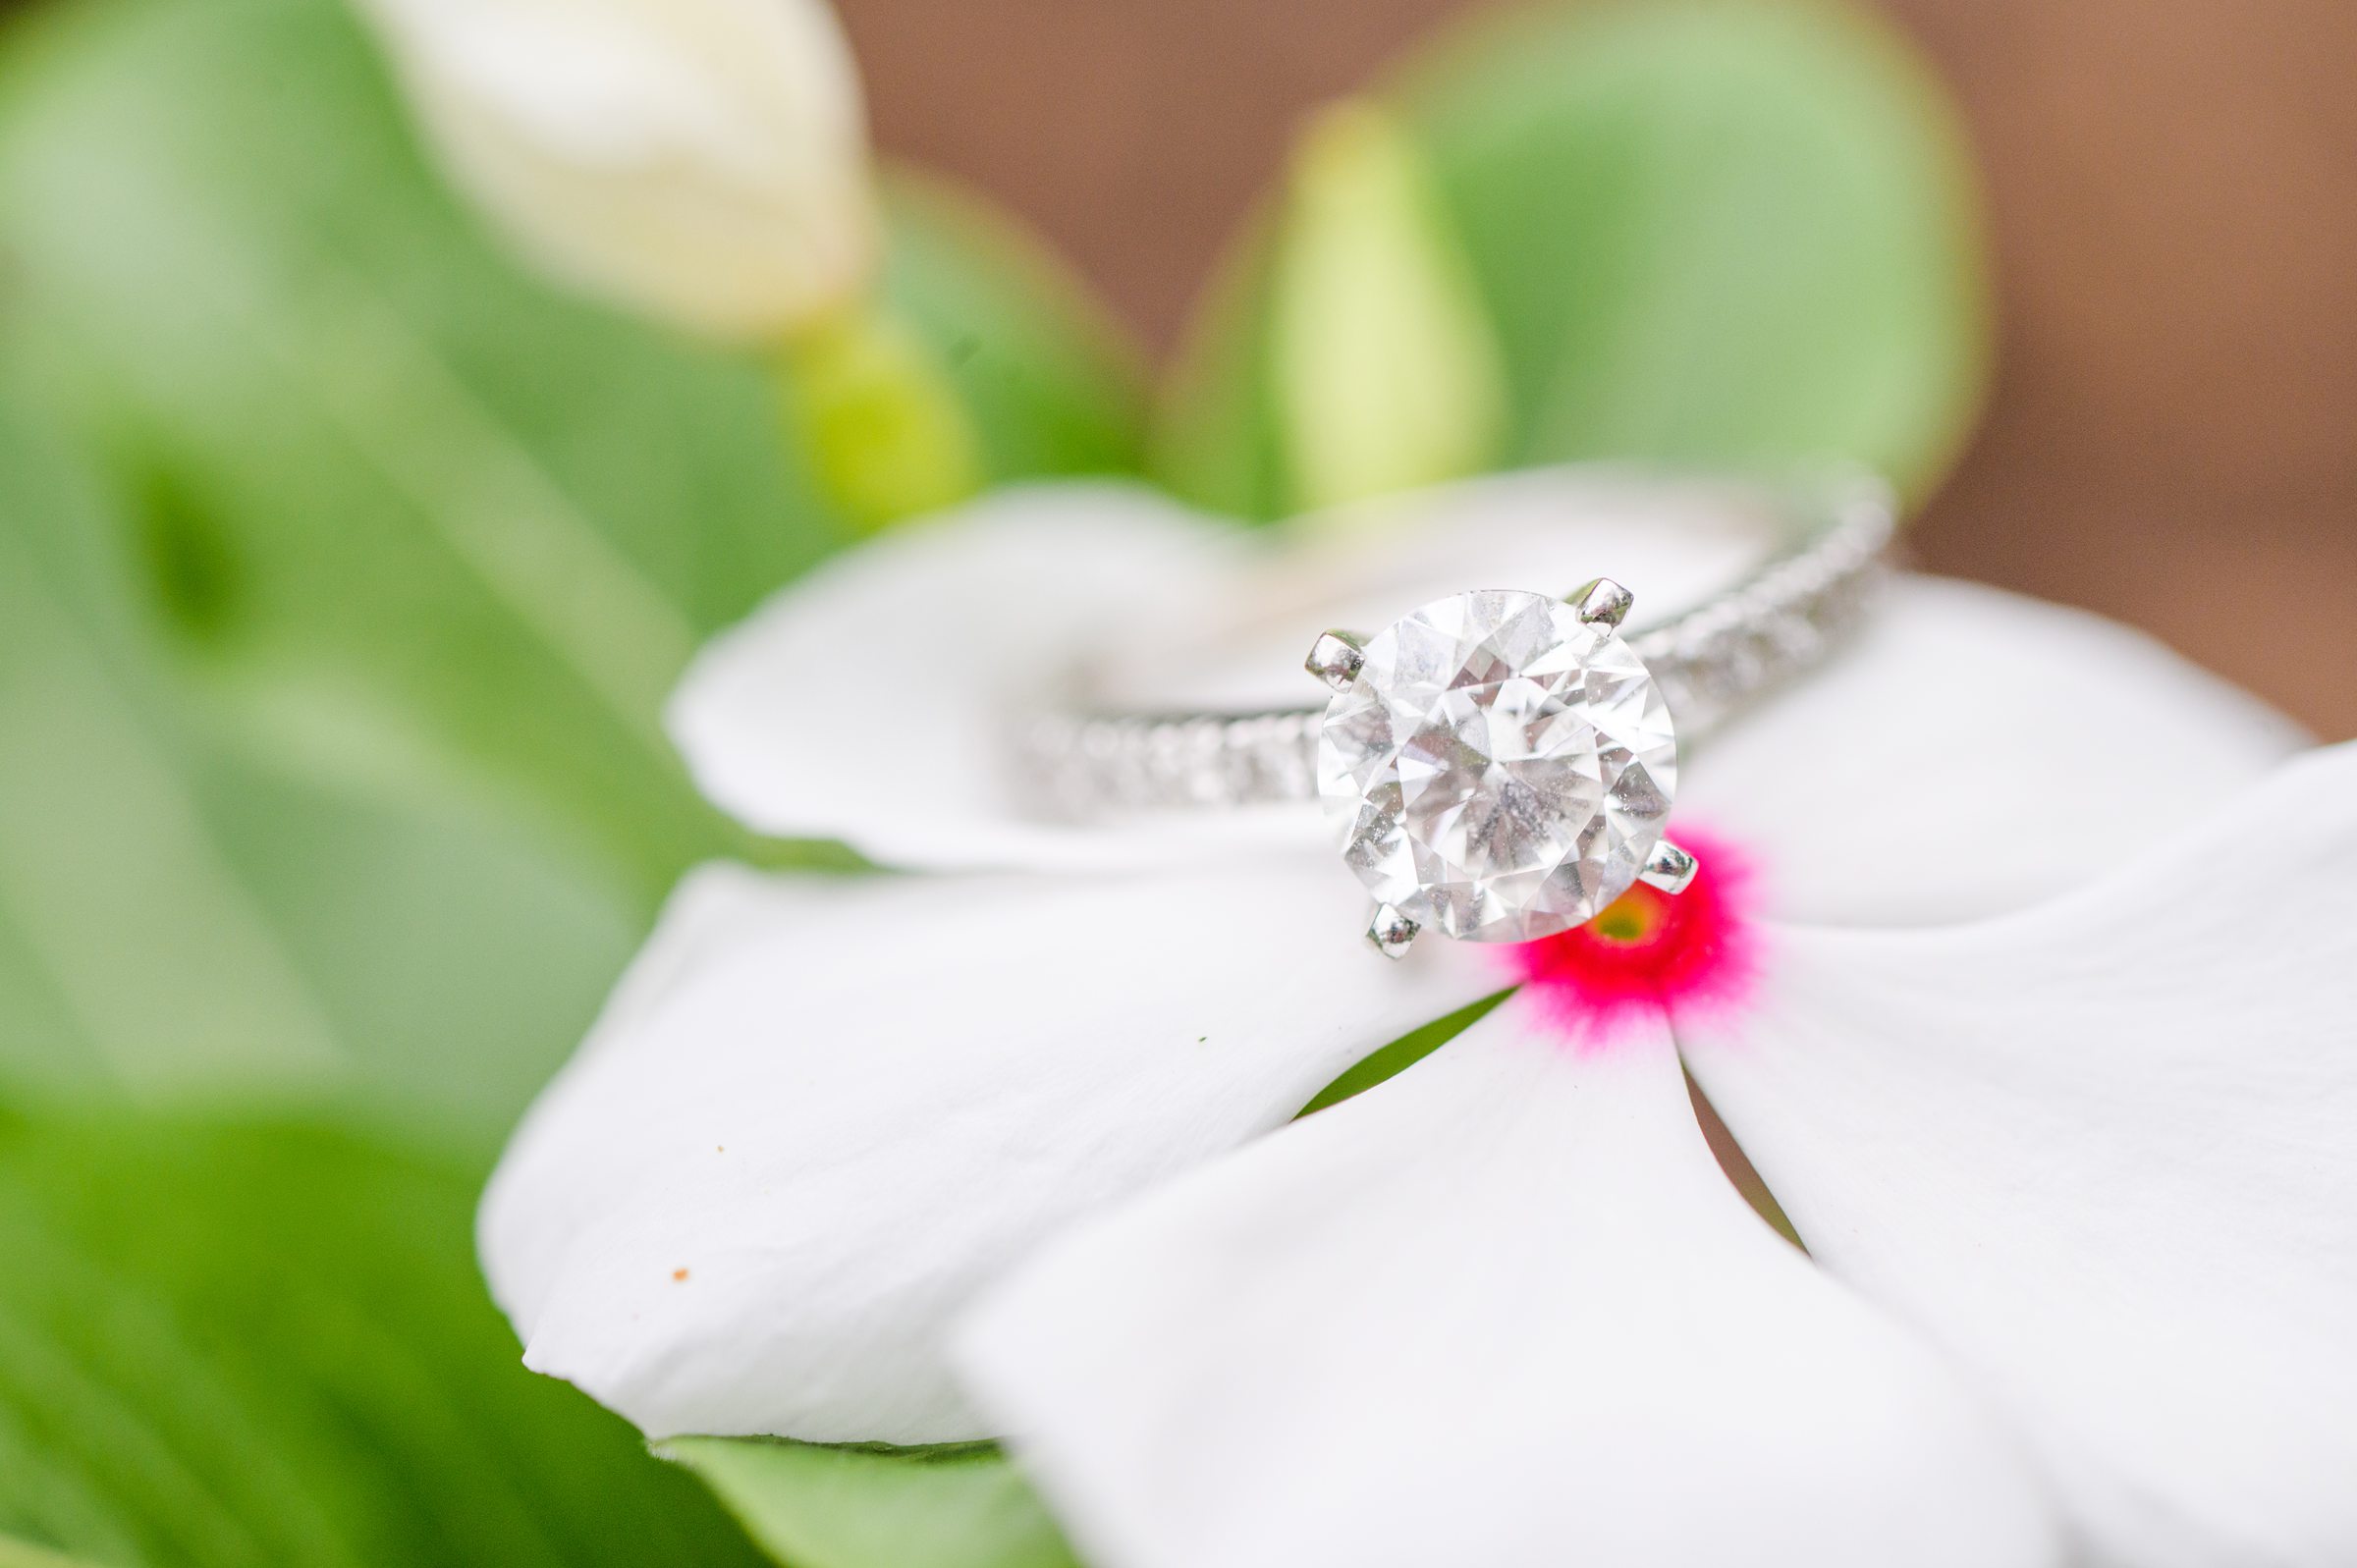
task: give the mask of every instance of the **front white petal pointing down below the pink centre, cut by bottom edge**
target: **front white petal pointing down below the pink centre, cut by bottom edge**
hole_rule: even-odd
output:
[[[1091,1224],[957,1342],[1098,1568],[2018,1568],[1942,1363],[1735,1195],[1669,1040],[1508,1002]]]

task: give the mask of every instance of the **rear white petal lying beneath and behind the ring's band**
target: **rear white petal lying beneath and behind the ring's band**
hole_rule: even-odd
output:
[[[1758,502],[1563,469],[1393,498],[1277,547],[1150,490],[1004,490],[780,589],[688,670],[669,729],[698,785],[761,832],[905,868],[1101,868],[1322,846],[1315,811],[1054,821],[1014,740],[1087,672],[1141,705],[1306,707],[1329,625],[1480,582],[1560,582],[1610,554],[1666,613],[1737,578]],[[1593,573],[1589,573],[1593,575]]]

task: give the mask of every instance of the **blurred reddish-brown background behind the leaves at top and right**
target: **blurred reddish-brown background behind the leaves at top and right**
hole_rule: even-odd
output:
[[[877,132],[1157,347],[1294,118],[1459,0],[841,0]],[[1996,401],[1930,566],[2133,620],[2357,736],[2357,5],[1890,0],[1987,170]]]

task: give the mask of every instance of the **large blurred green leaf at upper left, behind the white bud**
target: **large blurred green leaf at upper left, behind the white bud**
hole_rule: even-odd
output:
[[[653,901],[740,846],[658,710],[856,528],[759,356],[516,269],[332,0],[101,0],[0,108],[16,375],[101,457],[181,667],[280,762],[469,799]],[[1110,337],[971,203],[893,196],[886,290],[992,479],[1127,467]]]

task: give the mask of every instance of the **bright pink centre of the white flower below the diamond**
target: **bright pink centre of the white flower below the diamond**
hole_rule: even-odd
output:
[[[1683,894],[1643,882],[1589,924],[1506,948],[1516,979],[1565,1035],[1607,1045],[1631,1019],[1742,1004],[1758,974],[1751,865],[1723,839],[1683,830],[1702,870]]]

